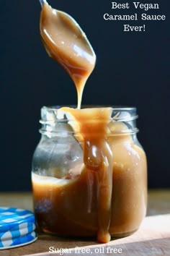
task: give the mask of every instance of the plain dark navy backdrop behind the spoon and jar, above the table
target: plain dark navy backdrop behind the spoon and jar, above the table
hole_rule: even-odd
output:
[[[49,2],[79,22],[97,54],[82,103],[136,106],[138,138],[148,156],[148,185],[170,187],[169,0],[159,1],[159,11],[148,12],[166,14],[163,22],[105,21],[105,12],[130,13],[112,10],[107,0]],[[38,0],[0,0],[1,191],[31,189],[40,108],[76,104],[73,82],[42,46],[39,17]],[[146,24],[146,32],[125,33],[123,24]]]

